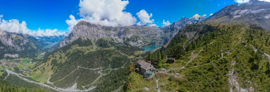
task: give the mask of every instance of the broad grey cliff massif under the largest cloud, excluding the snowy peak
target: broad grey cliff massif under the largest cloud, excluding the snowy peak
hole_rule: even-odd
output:
[[[131,25],[124,27],[107,27],[96,24],[90,24],[86,21],[79,21],[74,26],[73,32],[71,32],[62,42],[59,43],[59,47],[63,47],[70,42],[75,41],[78,38],[90,39],[95,43],[100,38],[105,38],[108,41],[113,40],[121,43],[126,42],[132,46],[141,47],[148,45],[152,40],[161,40],[160,38],[166,36],[162,30],[158,27],[149,25]],[[131,39],[134,36],[136,39]],[[153,44],[162,44],[164,41]]]

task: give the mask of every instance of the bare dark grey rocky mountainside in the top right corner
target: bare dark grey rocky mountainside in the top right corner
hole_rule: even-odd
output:
[[[270,2],[250,0],[250,2],[240,5],[228,5],[205,19],[205,21],[221,23],[241,21],[257,24],[265,30],[270,31]]]

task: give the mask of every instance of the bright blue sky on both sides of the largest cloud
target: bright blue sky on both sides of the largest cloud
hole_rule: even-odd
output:
[[[69,32],[69,26],[65,22],[73,15],[75,19],[80,19],[79,0],[0,0],[1,19],[17,19],[19,23],[25,21],[30,30],[57,29],[61,32]],[[137,18],[140,10],[152,13],[151,19],[161,27],[163,20],[180,20],[183,16],[192,17],[195,14],[209,17],[210,13],[215,13],[226,5],[234,4],[234,0],[129,0],[125,12],[129,12]],[[136,23],[137,23],[136,22]]]

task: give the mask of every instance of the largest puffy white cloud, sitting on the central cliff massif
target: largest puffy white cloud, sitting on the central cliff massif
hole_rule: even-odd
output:
[[[133,25],[137,19],[131,13],[125,12],[129,1],[121,0],[80,0],[79,16],[80,20],[87,21],[92,24],[100,24],[104,26],[126,26]],[[71,20],[66,23],[70,26],[76,23],[74,16],[69,16]],[[76,20],[79,21],[79,20]]]

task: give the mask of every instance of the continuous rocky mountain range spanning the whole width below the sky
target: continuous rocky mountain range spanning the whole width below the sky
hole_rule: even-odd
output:
[[[33,36],[9,33],[2,30],[0,50],[21,51],[25,49],[29,50],[29,48],[40,49],[45,46],[53,45],[55,45],[54,48],[60,48],[78,38],[83,40],[90,39],[93,44],[99,39],[104,39],[116,43],[125,42],[135,47],[163,45],[165,42],[171,40],[178,33],[180,28],[201,21],[215,21],[216,23],[241,21],[244,23],[257,24],[270,31],[270,3],[251,0],[249,3],[228,5],[208,18],[206,15],[199,16],[195,14],[190,19],[182,17],[181,20],[164,27],[149,25],[107,27],[80,21],[74,26],[74,31],[67,37],[60,35],[34,38]],[[30,39],[33,41],[29,41]],[[33,44],[27,45],[27,42]]]

